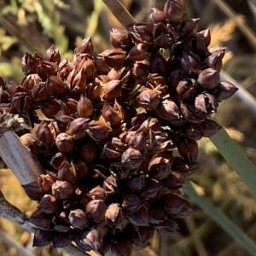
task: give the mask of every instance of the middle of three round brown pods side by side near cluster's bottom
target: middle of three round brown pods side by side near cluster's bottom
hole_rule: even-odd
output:
[[[85,212],[88,217],[96,223],[99,223],[105,217],[106,211],[107,206],[104,201],[99,199],[90,201],[85,207]]]

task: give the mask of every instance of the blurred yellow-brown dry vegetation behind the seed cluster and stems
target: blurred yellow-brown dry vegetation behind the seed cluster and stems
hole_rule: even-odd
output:
[[[200,18],[198,31],[210,28],[211,47],[227,48],[224,73],[249,93],[250,98],[240,92],[221,103],[216,117],[256,165],[256,0],[183,1],[186,17]],[[163,9],[166,3],[165,0],[120,2],[137,21],[146,21],[152,6]],[[0,76],[20,82],[22,55],[35,49],[42,54],[52,44],[60,50],[62,59],[73,59],[73,49],[88,36],[92,37],[96,54],[112,48],[109,43],[112,27],[121,28],[101,0],[0,0]],[[201,139],[199,145],[197,171],[189,180],[198,194],[205,195],[207,201],[224,211],[256,241],[255,198],[209,139]],[[1,169],[0,177],[0,189],[7,200],[27,214],[33,212],[36,203],[29,201],[12,173]],[[195,209],[189,218],[179,222],[177,235],[155,235],[152,246],[138,255],[249,255],[206,213],[196,206]],[[0,252],[6,256],[63,255],[52,247],[32,248],[32,235],[3,219],[0,219]]]

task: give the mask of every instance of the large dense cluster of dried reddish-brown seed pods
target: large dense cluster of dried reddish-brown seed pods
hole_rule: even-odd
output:
[[[220,129],[207,118],[236,87],[219,80],[225,49],[208,49],[209,30],[195,32],[198,19],[184,12],[169,0],[148,23],[113,29],[113,49],[93,55],[85,38],[73,61],[53,47],[27,53],[20,84],[0,80],[0,112],[29,118],[20,142],[45,168],[25,187],[38,201],[34,245],[131,255],[193,212],[179,189],[194,172],[196,140]]]

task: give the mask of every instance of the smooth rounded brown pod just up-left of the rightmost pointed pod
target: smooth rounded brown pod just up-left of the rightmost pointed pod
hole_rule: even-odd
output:
[[[199,74],[197,82],[201,85],[202,88],[211,90],[215,88],[219,83],[219,73],[211,67],[204,69]]]

